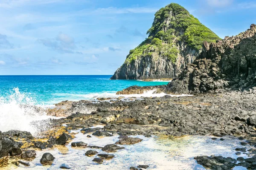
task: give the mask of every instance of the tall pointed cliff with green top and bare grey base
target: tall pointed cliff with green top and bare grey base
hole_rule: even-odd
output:
[[[147,34],[111,79],[175,78],[198,57],[204,41],[220,39],[176,3],[157,11]]]

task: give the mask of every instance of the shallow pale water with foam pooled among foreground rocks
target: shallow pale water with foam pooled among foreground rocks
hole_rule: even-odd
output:
[[[73,132],[79,132],[73,131]],[[87,138],[83,133],[76,134],[76,138],[72,142],[85,142],[89,145],[105,146],[118,141],[118,136],[98,138],[92,136]],[[134,136],[132,136],[134,137]],[[37,151],[37,157],[31,162],[30,167],[16,167],[11,165],[9,168],[17,169],[33,169],[33,170],[55,170],[63,163],[70,165],[75,170],[128,170],[131,166],[140,164],[148,164],[148,169],[156,170],[204,170],[205,168],[197,164],[194,160],[195,156],[201,155],[221,155],[237,158],[235,155],[236,147],[242,147],[235,137],[225,136],[224,141],[219,139],[212,140],[212,136],[185,136],[175,139],[160,138],[157,136],[146,138],[144,136],[136,136],[143,139],[142,142],[131,145],[123,145],[124,150],[113,153],[115,157],[111,160],[104,160],[103,164],[96,164],[92,160],[96,156],[87,157],[84,153],[87,150],[99,149],[90,148],[74,148],[71,142],[63,147],[55,149],[47,149]],[[40,164],[41,156],[46,153],[52,153],[55,160],[51,166],[42,166]],[[111,153],[112,154],[112,153]],[[247,158],[246,155],[240,155]],[[235,167],[234,170],[244,170],[244,167]]]

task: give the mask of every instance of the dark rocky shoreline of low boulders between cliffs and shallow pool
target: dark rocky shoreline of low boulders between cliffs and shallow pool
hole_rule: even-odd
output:
[[[120,140],[116,144],[102,148],[106,155],[98,155],[94,161],[102,163],[104,159],[111,159],[108,152],[118,152],[126,144],[135,144],[142,139],[134,138],[135,135],[169,136],[175,138],[186,135],[240,137],[244,148],[238,148],[234,152],[248,152],[248,156],[256,153],[253,138],[256,137],[256,90],[239,92],[233,91],[225,94],[196,94],[194,96],[181,97],[153,97],[131,102],[113,100],[112,102],[62,102],[61,107],[68,105],[66,118],[50,119],[50,130],[42,131],[40,137],[34,137],[29,132],[10,130],[0,135],[0,159],[1,167],[12,163],[27,166],[29,160],[35,158],[33,150],[65,145],[74,139],[75,134],[70,130],[79,130],[90,136],[104,138],[106,136],[119,135]],[[86,111],[85,111],[86,109]],[[86,114],[85,112],[91,111]],[[73,113],[73,114],[71,114]],[[102,125],[103,128],[93,128]],[[213,139],[215,140],[215,139]],[[73,147],[87,146],[85,141],[71,144]],[[90,151],[91,155],[94,153]],[[7,157],[6,157],[7,156]],[[98,159],[99,157],[99,159]],[[51,164],[54,155],[45,155],[41,164]],[[199,164],[211,169],[232,169],[234,166],[243,166],[253,169],[254,157],[240,160],[236,163],[233,159],[220,157],[195,157]],[[220,160],[221,159],[221,160]],[[241,159],[241,158],[239,158]],[[232,164],[230,163],[232,162]],[[244,163],[243,163],[244,162]],[[227,166],[227,164],[230,164]],[[236,165],[237,164],[237,165]],[[223,166],[222,166],[223,165]],[[138,169],[140,167],[131,167]]]

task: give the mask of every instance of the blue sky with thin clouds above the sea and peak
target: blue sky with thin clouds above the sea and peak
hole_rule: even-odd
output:
[[[256,23],[255,0],[0,0],[0,75],[113,74],[172,2],[221,38]]]

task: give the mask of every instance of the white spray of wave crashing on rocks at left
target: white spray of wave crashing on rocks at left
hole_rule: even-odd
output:
[[[47,116],[44,109],[35,107],[36,100],[27,93],[21,93],[14,88],[9,96],[0,97],[0,130],[25,130],[36,135],[41,128],[47,126]],[[41,122],[33,122],[44,120]]]

